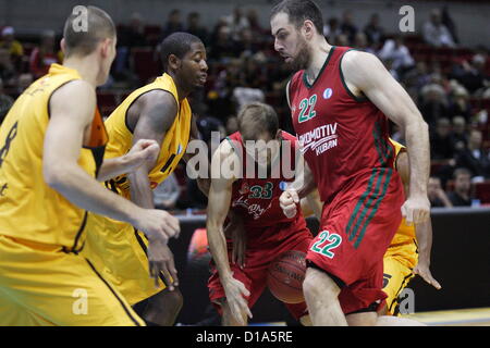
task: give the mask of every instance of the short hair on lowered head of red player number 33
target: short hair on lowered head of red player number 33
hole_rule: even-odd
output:
[[[268,132],[271,137],[275,137],[278,129],[278,114],[271,105],[262,102],[250,102],[240,110],[238,130],[244,140],[255,140],[264,132]]]

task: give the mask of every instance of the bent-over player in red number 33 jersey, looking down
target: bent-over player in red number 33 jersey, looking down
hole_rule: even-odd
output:
[[[266,287],[272,260],[287,250],[306,252],[313,240],[303,215],[286,217],[279,206],[286,183],[294,179],[297,148],[296,138],[280,130],[278,124],[271,107],[244,107],[238,115],[240,133],[223,140],[212,158],[212,170],[220,167],[221,172],[211,173],[208,196],[206,225],[213,259],[208,288],[223,325],[246,325],[247,315],[252,318],[249,309]],[[267,146],[250,147],[248,140],[264,140],[259,142]],[[261,169],[267,171],[261,173]],[[233,246],[223,233],[230,210],[242,217],[246,233],[244,266],[232,262]],[[304,325],[309,323],[305,302],[286,307]]]

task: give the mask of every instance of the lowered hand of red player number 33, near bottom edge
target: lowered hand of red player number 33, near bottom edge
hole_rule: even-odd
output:
[[[245,325],[245,314],[252,318],[252,312],[245,299],[245,297],[250,296],[250,293],[242,282],[235,279],[233,276],[223,282],[223,288],[234,321],[240,325]]]

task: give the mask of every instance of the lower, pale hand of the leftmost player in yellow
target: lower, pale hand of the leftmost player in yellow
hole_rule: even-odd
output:
[[[143,231],[149,240],[158,240],[167,244],[169,238],[177,238],[181,233],[179,219],[172,216],[167,211],[140,209],[136,216],[137,219],[132,225]]]

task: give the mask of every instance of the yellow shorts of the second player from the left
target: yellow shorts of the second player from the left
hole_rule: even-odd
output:
[[[166,284],[150,278],[146,236],[131,224],[88,214],[84,257],[101,270],[131,303],[140,302],[166,289]],[[161,277],[160,277],[161,278]]]

